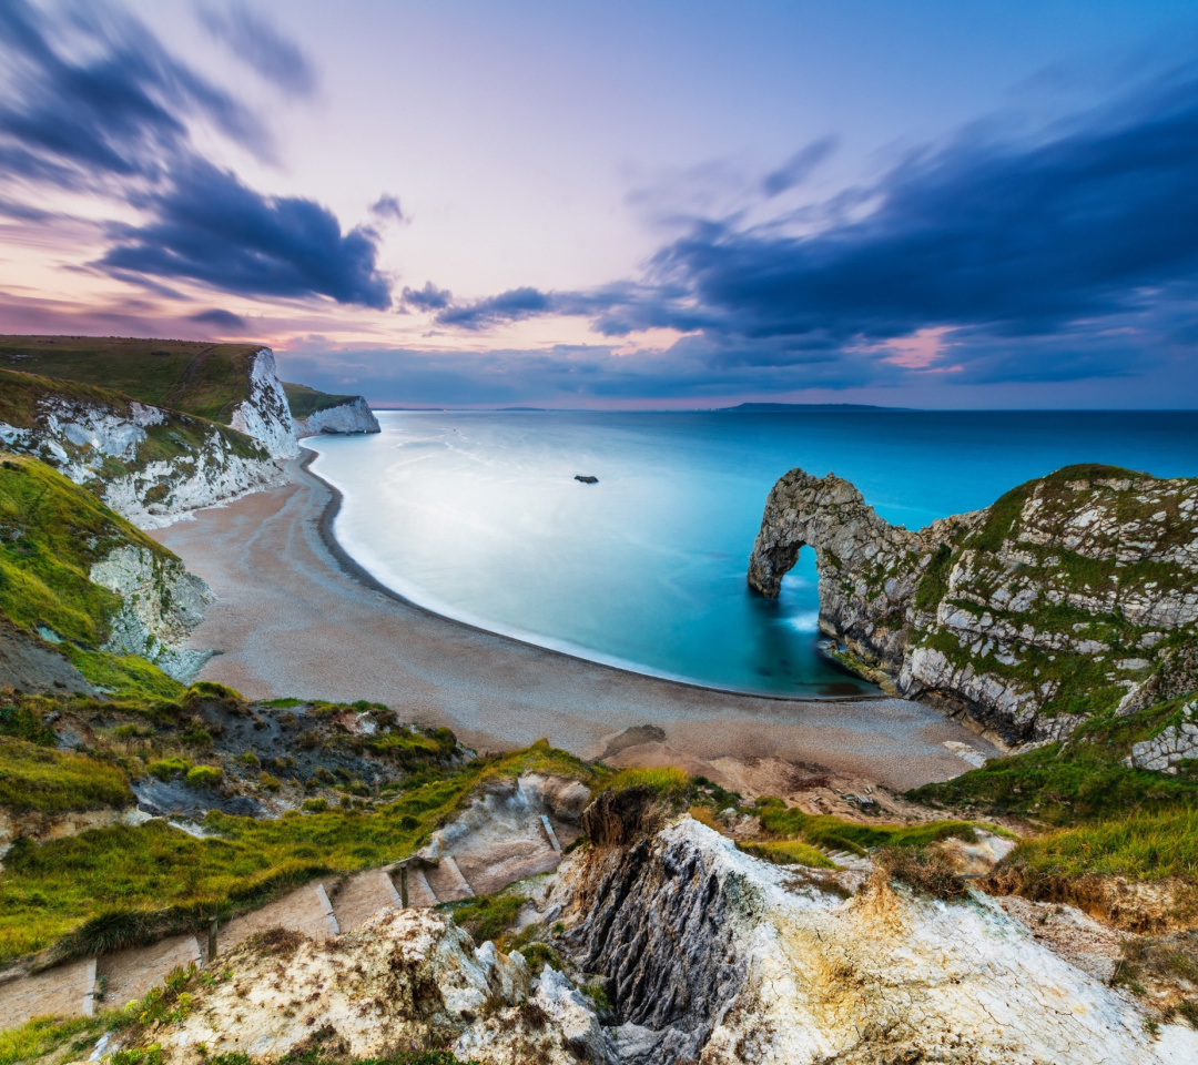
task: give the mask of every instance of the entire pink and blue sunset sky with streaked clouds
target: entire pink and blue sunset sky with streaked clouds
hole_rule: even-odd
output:
[[[394,406],[1198,406],[1192,0],[2,0],[0,331]]]

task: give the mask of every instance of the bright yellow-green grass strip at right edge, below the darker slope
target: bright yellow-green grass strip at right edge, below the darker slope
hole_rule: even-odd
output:
[[[1198,807],[1137,812],[1046,833],[1022,841],[1005,864],[1033,877],[1198,882]]]

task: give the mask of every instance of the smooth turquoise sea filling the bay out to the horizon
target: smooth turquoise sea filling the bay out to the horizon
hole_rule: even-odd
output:
[[[380,413],[319,437],[335,534],[440,613],[648,673],[770,694],[860,688],[816,648],[815,559],[778,600],[745,569],[792,466],[918,528],[1072,462],[1198,474],[1193,412]],[[574,480],[593,474],[595,485]]]

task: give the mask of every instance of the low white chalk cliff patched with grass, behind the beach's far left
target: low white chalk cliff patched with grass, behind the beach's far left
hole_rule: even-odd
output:
[[[0,420],[0,448],[41,459],[143,528],[285,482],[264,443],[213,422],[68,381],[8,371],[0,379],[20,393],[24,412],[22,424]],[[258,412],[243,418],[248,428],[280,435],[250,399],[238,410],[247,405]],[[288,414],[289,432],[290,424]],[[294,432],[291,441],[297,450]],[[285,440],[274,443],[286,452]]]

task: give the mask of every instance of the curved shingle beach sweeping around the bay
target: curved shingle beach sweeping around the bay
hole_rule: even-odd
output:
[[[253,698],[381,702],[448,725],[473,746],[547,737],[585,757],[627,728],[645,751],[709,762],[782,758],[895,788],[969,766],[944,744],[996,754],[936,710],[897,698],[799,701],[692,688],[532,647],[431,615],[380,588],[326,543],[333,492],[301,467],[156,537],[208,582],[217,603],[193,634],[219,651],[202,677]],[[332,547],[332,550],[331,550]],[[664,733],[664,737],[662,737]],[[631,737],[629,737],[631,738]],[[622,752],[622,761],[635,751]]]

